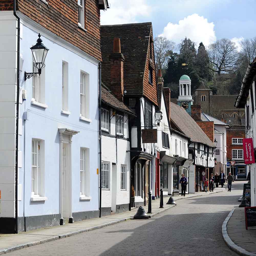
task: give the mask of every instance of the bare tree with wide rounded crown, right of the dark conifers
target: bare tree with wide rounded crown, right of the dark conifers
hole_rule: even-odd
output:
[[[218,75],[221,73],[232,73],[236,70],[239,53],[234,42],[222,38],[211,44],[208,48],[210,69]]]

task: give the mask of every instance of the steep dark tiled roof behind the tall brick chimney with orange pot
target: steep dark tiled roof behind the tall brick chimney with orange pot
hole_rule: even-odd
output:
[[[102,81],[110,87],[110,60],[113,39],[121,41],[124,55],[124,90],[126,96],[142,96],[144,71],[152,23],[135,23],[101,26]]]

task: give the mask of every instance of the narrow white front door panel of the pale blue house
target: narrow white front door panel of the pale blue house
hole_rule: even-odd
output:
[[[69,215],[70,203],[69,187],[69,145],[62,144],[62,218],[67,219]]]

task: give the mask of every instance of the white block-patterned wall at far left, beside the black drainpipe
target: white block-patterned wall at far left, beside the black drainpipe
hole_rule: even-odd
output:
[[[0,190],[1,217],[15,216],[15,145],[17,94],[17,21],[12,11],[0,12]],[[19,142],[21,130],[19,121]],[[18,177],[23,176],[22,146]],[[18,195],[21,196],[20,194]],[[19,205],[20,206],[20,205]]]

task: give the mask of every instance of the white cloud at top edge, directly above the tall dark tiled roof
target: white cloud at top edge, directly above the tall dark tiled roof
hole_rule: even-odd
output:
[[[151,7],[146,0],[111,0],[110,9],[101,11],[101,25],[137,23],[137,19],[148,17],[151,14]]]

